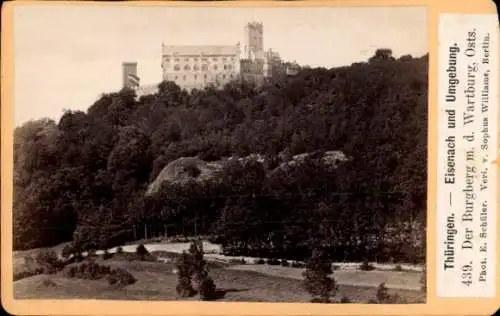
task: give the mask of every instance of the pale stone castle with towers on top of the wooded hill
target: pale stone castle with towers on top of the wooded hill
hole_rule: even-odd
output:
[[[231,81],[261,85],[267,78],[294,75],[295,63],[285,63],[277,52],[264,50],[262,23],[245,26],[243,47],[235,45],[162,45],[163,81],[173,81],[182,89],[223,87]],[[158,84],[141,85],[136,62],[123,63],[123,87],[138,96],[153,94]]]

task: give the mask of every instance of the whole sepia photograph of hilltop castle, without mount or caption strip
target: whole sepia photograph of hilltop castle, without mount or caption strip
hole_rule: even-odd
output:
[[[14,299],[426,303],[425,7],[13,30]]]

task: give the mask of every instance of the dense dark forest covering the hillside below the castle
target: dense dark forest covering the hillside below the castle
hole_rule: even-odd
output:
[[[159,235],[205,235],[227,253],[301,260],[425,260],[428,57],[302,69],[264,86],[137,98],[103,94],[59,122],[14,133],[14,248],[82,251]],[[57,97],[57,95],[54,95]],[[331,168],[315,154],[342,151]],[[233,159],[217,181],[165,181],[181,157]],[[196,165],[188,170],[196,176]]]

